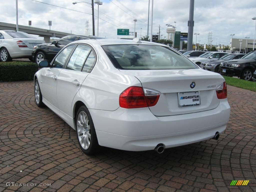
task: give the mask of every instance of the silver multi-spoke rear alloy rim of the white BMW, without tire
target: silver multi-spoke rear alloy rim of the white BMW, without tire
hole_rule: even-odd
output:
[[[88,149],[91,143],[91,127],[87,114],[80,111],[77,117],[77,135],[81,146]]]

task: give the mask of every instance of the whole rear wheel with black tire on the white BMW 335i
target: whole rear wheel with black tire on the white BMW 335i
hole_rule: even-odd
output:
[[[87,116],[87,117],[84,116],[85,118],[82,118],[84,122],[81,121],[81,118],[80,118],[81,114],[82,115],[86,114],[86,116]],[[78,119],[78,116],[79,116],[79,119]],[[79,125],[77,124],[78,120],[81,122]],[[87,155],[91,155],[91,154],[96,153],[97,150],[98,150],[98,147],[99,147],[98,139],[97,139],[97,135],[96,135],[96,132],[95,132],[95,128],[94,128],[94,124],[93,124],[93,121],[92,121],[91,114],[90,114],[89,110],[87,109],[87,107],[85,105],[82,105],[77,111],[77,114],[76,114],[76,132],[77,132],[77,140],[78,140],[78,143],[79,143],[79,146],[80,146],[81,150]],[[78,133],[78,132],[80,132],[80,133]],[[88,138],[88,141],[89,141],[89,136],[88,136],[89,134],[88,133],[91,136],[90,136],[89,147],[87,148],[88,143],[86,143],[86,138]]]

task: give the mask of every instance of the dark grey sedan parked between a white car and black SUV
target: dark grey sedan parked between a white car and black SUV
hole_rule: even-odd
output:
[[[240,59],[243,56],[245,56],[245,54],[240,54],[240,53],[228,54],[228,55],[224,55],[223,57],[217,60],[204,61],[201,63],[201,66],[203,66],[203,69],[205,70],[218,73],[221,62],[232,60],[232,59]]]

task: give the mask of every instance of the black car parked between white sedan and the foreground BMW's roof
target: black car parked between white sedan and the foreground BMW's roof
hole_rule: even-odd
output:
[[[47,59],[49,62],[57,55],[57,53],[66,45],[73,41],[84,39],[102,39],[97,36],[84,36],[84,35],[67,35],[52,41],[51,43],[39,44],[32,50],[32,59],[38,64],[39,61]]]

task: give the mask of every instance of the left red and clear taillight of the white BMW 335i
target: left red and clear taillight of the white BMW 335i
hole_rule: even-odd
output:
[[[119,96],[119,105],[122,108],[143,108],[156,105],[160,97],[160,93],[148,90],[150,93],[145,95],[142,87],[129,87],[125,89]],[[155,93],[155,95],[154,95]]]

